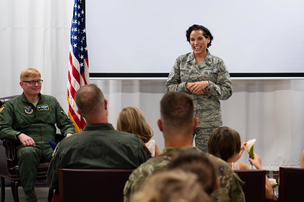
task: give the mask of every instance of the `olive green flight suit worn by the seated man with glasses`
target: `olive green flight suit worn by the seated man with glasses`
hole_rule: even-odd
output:
[[[8,138],[16,142],[19,174],[24,191],[35,187],[38,164],[52,158],[53,150],[49,140],[55,141],[56,126],[64,136],[75,133],[73,122],[56,98],[43,94],[39,94],[39,97],[36,107],[22,93],[0,108],[0,139]],[[32,137],[36,147],[24,147],[20,141],[16,141],[15,134],[18,131]]]

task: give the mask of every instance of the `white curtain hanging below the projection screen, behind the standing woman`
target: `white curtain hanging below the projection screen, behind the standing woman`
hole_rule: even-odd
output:
[[[127,106],[140,108],[154,131],[154,139],[164,148],[156,121],[159,102],[165,94],[165,80],[98,80],[109,101],[109,122],[115,127],[119,111]],[[254,152],[265,170],[280,166],[299,167],[304,150],[304,80],[235,80],[233,94],[221,101],[223,125],[237,130],[241,140],[256,139]],[[248,162],[245,151],[240,161]]]

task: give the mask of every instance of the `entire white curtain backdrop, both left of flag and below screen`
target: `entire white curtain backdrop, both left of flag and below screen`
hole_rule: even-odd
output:
[[[67,71],[73,0],[1,0],[0,97],[21,94],[20,72],[36,68],[42,74],[43,94],[55,96],[67,111]],[[90,60],[90,49],[88,47]],[[173,62],[173,61],[172,61]],[[229,69],[229,67],[228,67]],[[165,80],[92,79],[109,100],[109,122],[116,125],[126,106],[140,108],[164,148],[156,121]],[[241,139],[256,138],[254,151],[262,167],[299,167],[304,149],[304,80],[232,80],[233,95],[222,102],[223,124],[239,131]],[[243,154],[246,161],[248,154]]]

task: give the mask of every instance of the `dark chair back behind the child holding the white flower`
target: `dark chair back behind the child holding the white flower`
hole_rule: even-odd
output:
[[[242,186],[246,202],[265,202],[266,171],[238,170],[234,171],[245,182]]]

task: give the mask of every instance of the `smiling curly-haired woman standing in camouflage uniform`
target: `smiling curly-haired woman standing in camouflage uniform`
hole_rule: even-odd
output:
[[[196,134],[195,145],[207,152],[210,134],[223,124],[219,100],[230,98],[232,84],[224,61],[206,49],[213,40],[210,31],[201,25],[192,25],[186,31],[186,37],[193,52],[176,59],[166,82],[166,91],[183,91],[191,96],[195,117],[199,119],[193,133],[193,137]]]

